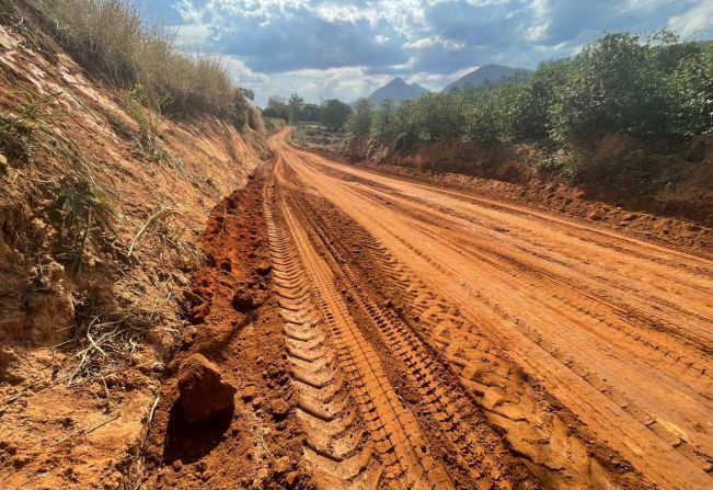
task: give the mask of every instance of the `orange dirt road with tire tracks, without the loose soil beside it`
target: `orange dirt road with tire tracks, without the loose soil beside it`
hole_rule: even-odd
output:
[[[271,253],[324,488],[713,486],[713,261],[287,132],[273,147]]]

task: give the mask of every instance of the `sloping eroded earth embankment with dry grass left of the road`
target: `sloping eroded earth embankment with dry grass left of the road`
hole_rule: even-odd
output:
[[[268,150],[88,77],[1,3],[0,487],[126,488],[197,237]]]

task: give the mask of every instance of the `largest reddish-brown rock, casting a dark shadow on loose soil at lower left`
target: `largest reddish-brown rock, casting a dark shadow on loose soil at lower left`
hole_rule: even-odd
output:
[[[207,422],[233,404],[235,387],[222,379],[218,366],[193,354],[179,368],[183,417],[192,423]]]

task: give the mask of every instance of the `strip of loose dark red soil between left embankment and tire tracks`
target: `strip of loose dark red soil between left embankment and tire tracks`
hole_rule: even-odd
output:
[[[269,257],[262,209],[264,171],[212,212],[200,244],[208,265],[192,280],[191,312],[169,365],[149,432],[145,488],[310,488],[302,432],[290,406],[283,322],[268,296]],[[233,301],[238,297],[250,301]],[[238,392],[217,419],[191,424],[179,402],[177,372],[206,356]]]

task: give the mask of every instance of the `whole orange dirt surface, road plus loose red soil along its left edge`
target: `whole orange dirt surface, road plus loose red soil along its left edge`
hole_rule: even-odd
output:
[[[709,258],[271,144],[204,233],[143,488],[711,487]],[[207,423],[193,354],[238,389]]]

